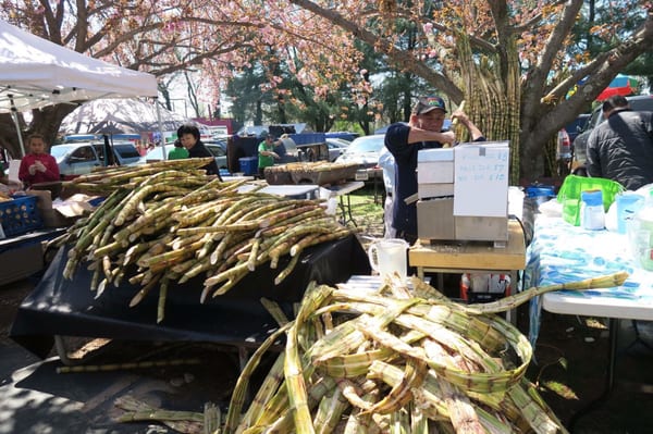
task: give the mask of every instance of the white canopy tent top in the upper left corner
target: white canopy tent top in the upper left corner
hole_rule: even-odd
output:
[[[16,128],[19,111],[157,94],[151,74],[89,58],[0,20],[0,113],[13,113]]]

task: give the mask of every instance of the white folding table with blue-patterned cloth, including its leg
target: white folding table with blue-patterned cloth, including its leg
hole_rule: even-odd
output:
[[[547,293],[531,302],[530,337],[534,344],[540,309],[552,313],[607,318],[608,360],[604,393],[577,412],[569,427],[612,393],[615,384],[617,337],[621,320],[653,321],[653,272],[632,259],[628,237],[611,231],[586,231],[560,218],[540,215],[528,248],[525,288],[599,277],[620,271],[629,273],[624,285],[605,289]],[[545,324],[544,324],[545,326]]]

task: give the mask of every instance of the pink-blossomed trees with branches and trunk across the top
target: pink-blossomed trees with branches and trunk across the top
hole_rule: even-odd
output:
[[[292,76],[293,90],[304,89],[315,103],[306,108],[324,109],[323,127],[342,91],[357,98],[349,107],[366,116],[387,109],[389,119],[405,120],[415,95],[405,86],[419,78],[455,104],[466,100],[490,138],[510,139],[513,182],[541,174],[550,138],[618,72],[650,62],[653,47],[648,0],[4,0],[2,7],[0,16],[12,24],[150,72],[160,83],[201,71],[197,89],[211,101],[231,77],[252,69],[266,77],[261,90],[287,101],[291,92],[280,84]],[[361,44],[382,61],[364,65]],[[387,66],[396,88],[375,95],[369,77]],[[23,127],[53,137],[65,111],[45,109]],[[7,146],[15,132],[5,119],[0,124]]]

